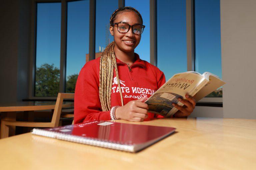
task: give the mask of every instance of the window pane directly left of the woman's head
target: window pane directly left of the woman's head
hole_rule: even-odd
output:
[[[95,58],[99,57],[106,46],[114,41],[109,32],[109,20],[117,8],[118,0],[96,1]]]

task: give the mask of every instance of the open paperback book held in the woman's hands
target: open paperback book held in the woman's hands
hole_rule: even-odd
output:
[[[184,105],[178,98],[186,99],[185,95],[188,93],[190,96],[194,96],[196,101],[199,101],[224,84],[218,76],[209,72],[203,74],[194,71],[178,73],[172,76],[145,103],[149,106],[149,112],[170,117],[178,111],[172,106],[172,103]]]

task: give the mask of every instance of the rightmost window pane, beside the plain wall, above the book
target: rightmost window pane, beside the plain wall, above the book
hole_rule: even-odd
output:
[[[219,0],[195,0],[195,70],[222,78]],[[208,97],[222,97],[222,88]]]

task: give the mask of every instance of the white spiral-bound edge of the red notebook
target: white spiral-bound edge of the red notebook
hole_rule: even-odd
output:
[[[126,152],[135,152],[133,145],[119,144],[119,143],[111,143],[107,141],[95,140],[93,138],[86,138],[82,136],[75,136],[70,134],[63,134],[59,132],[53,132],[43,129],[33,129],[32,134],[46,136],[51,138],[57,138],[60,140],[66,140],[76,143],[88,144],[93,146],[105,147],[110,149],[122,150]]]

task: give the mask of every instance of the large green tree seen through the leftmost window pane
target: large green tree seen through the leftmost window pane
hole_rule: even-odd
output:
[[[60,70],[54,64],[42,64],[36,68],[35,96],[57,96]]]

